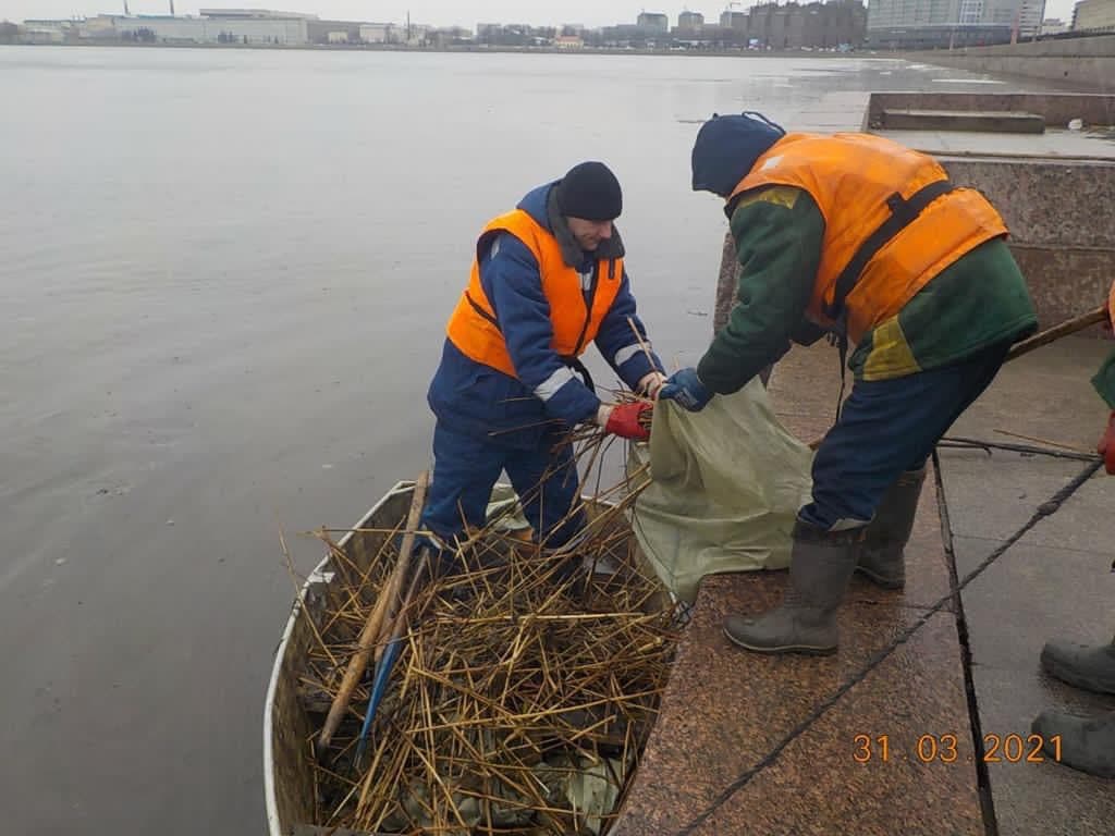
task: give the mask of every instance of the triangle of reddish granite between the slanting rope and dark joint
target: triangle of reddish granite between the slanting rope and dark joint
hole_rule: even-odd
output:
[[[956,638],[933,615],[694,833],[982,834]]]

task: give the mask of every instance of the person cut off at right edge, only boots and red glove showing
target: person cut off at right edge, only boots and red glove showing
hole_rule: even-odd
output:
[[[1107,309],[1115,331],[1115,282]],[[1096,451],[1104,457],[1108,474],[1115,475],[1115,351],[1092,379],[1093,386],[1112,412],[1107,417]],[[1115,565],[1112,566],[1115,570]],[[1041,667],[1064,682],[1096,693],[1115,694],[1115,639],[1109,644],[1085,645],[1068,641],[1048,642],[1041,649]],[[1063,764],[1090,775],[1115,778],[1115,711],[1094,718],[1043,711],[1032,731],[1041,737],[1046,750]],[[1059,747],[1054,738],[1058,738]]]

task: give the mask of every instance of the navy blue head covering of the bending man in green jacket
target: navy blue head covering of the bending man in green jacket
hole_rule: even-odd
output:
[[[727,197],[755,165],[755,161],[786,135],[763,114],[718,116],[701,125],[694,143],[694,191]]]

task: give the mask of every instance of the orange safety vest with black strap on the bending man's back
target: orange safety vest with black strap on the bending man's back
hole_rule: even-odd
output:
[[[807,313],[859,342],[930,280],[1007,227],[979,192],[958,188],[937,161],[869,134],[787,134],[728,197],[754,188],[805,189],[825,218]]]

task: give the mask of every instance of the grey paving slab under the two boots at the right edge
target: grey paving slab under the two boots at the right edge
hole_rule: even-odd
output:
[[[962,592],[972,681],[987,751],[1016,736],[1032,752],[1030,722],[1047,708],[1094,715],[1115,699],[1088,694],[1047,677],[1041,648],[1050,639],[1111,640],[1115,575],[1109,558],[1090,552],[1016,543]],[[1016,743],[1017,743],[1016,739]],[[988,762],[1000,834],[1109,834],[1115,822],[1112,781],[1046,758],[1031,762],[1000,747]],[[1040,823],[1040,829],[1035,824]]]

